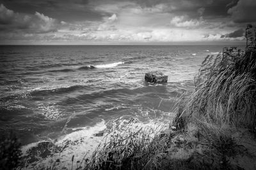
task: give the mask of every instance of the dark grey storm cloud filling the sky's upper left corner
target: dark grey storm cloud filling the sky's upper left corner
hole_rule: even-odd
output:
[[[4,4],[6,8],[19,13],[33,14],[38,11],[49,17],[68,22],[101,20],[102,18],[102,14],[94,11],[93,4],[90,4],[88,0],[0,0],[0,4]]]

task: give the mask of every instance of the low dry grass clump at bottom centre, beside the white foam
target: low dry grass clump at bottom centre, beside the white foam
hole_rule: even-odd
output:
[[[141,127],[131,131],[127,125],[125,130],[111,133],[109,140],[84,164],[84,169],[158,169],[168,147],[167,134],[156,136],[160,130]]]

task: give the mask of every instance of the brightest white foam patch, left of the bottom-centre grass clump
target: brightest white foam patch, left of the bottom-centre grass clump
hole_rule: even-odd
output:
[[[60,153],[56,153],[53,156],[49,155],[45,159],[40,158],[37,162],[33,162],[33,166],[30,164],[28,167],[26,167],[26,169],[44,169],[47,166],[52,166],[56,159],[60,159],[60,162],[62,162],[60,166],[64,166],[65,162],[67,162],[65,167],[71,169],[71,159],[73,155],[74,162],[77,162],[77,160],[82,160],[84,155],[89,157],[95,148],[97,148],[100,141],[102,141],[104,138],[104,136],[96,137],[94,134],[106,129],[105,121],[102,120],[93,127],[81,127],[79,129],[81,130],[61,136],[53,142],[56,147],[63,148]],[[28,151],[31,148],[38,146],[38,144],[42,142],[45,142],[45,140],[22,146],[23,155],[28,154]],[[60,169],[61,168],[62,167],[60,167]]]

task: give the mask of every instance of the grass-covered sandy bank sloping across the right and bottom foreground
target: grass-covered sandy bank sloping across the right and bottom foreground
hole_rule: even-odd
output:
[[[61,162],[57,155],[42,169],[255,169],[255,46],[224,49],[205,58],[170,125],[153,129],[131,119],[103,136],[90,157],[65,153],[70,162]]]

